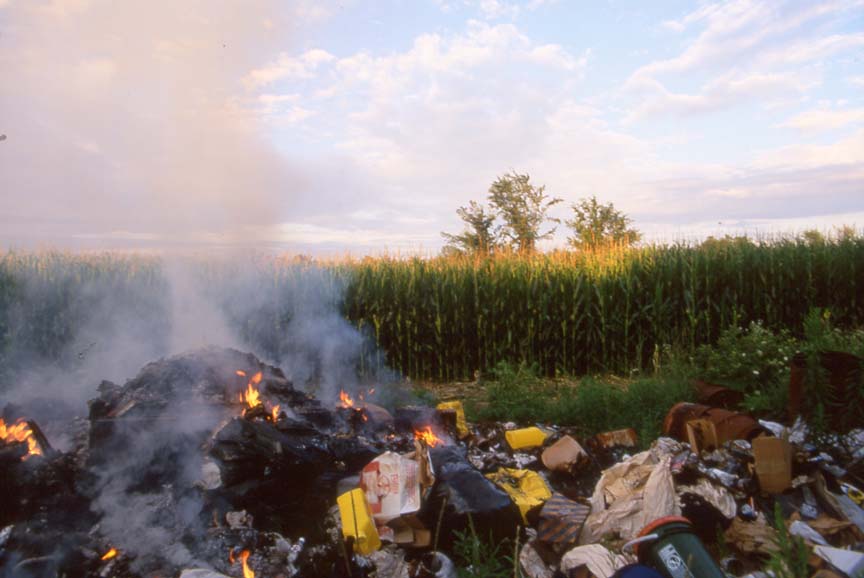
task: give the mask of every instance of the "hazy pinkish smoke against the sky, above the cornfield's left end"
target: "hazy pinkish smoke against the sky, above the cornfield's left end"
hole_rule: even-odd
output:
[[[317,14],[304,1],[0,2],[2,237],[184,246],[284,221],[305,177],[241,79]]]

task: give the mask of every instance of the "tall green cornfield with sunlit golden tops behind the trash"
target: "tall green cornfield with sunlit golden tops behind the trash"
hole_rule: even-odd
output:
[[[254,268],[262,295],[255,307],[230,297],[248,277],[242,271],[214,264],[202,273],[207,286],[225,288],[219,305],[250,347],[279,357],[298,303],[310,306],[321,293],[303,282],[314,272],[327,302],[370,338],[360,369],[388,365],[415,379],[471,379],[502,360],[547,375],[626,372],[650,365],[658,348],[692,352],[732,325],[761,320],[796,331],[816,307],[831,309],[840,325],[864,324],[860,237],[488,258],[265,259]],[[25,343],[59,355],[82,316],[98,310],[81,292],[94,283],[148,316],[155,333],[170,324],[156,259],[10,253],[0,260],[0,362]],[[305,293],[314,295],[298,300]]]

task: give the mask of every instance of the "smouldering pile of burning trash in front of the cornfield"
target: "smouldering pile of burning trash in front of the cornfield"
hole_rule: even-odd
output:
[[[466,535],[529,578],[864,575],[864,431],[825,451],[701,384],[638,451],[375,389],[327,404],[207,348],[102,382],[67,451],[7,408],[0,576],[450,578]]]

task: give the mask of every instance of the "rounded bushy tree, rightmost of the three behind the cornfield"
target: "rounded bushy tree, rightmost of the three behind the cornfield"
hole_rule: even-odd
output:
[[[612,203],[601,205],[597,197],[572,205],[573,218],[565,221],[573,231],[567,242],[577,249],[594,249],[610,243],[632,245],[642,234],[630,227],[632,221]]]

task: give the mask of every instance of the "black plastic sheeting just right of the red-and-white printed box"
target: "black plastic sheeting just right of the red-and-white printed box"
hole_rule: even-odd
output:
[[[481,540],[498,544],[516,536],[521,525],[519,510],[504,490],[468,462],[461,448],[431,448],[429,454],[436,483],[423,510],[423,521],[434,535],[440,518],[439,548],[450,548],[456,538],[454,532],[468,530],[469,517]]]

